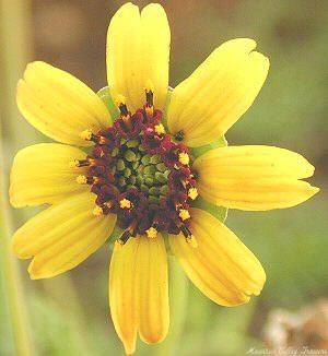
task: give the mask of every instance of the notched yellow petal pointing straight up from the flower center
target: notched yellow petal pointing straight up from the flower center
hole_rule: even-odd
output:
[[[144,90],[151,83],[155,107],[164,108],[169,41],[169,26],[160,4],[149,4],[141,15],[130,2],[117,11],[107,34],[107,78],[114,100],[122,95],[128,109],[134,111],[145,104]]]

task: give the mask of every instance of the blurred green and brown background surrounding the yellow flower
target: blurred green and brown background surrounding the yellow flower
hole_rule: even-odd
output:
[[[257,40],[258,50],[270,58],[270,74],[255,105],[230,130],[227,140],[303,154],[316,166],[312,182],[321,191],[305,204],[284,211],[230,211],[227,226],[267,271],[262,294],[247,306],[223,308],[192,286],[188,290],[178,287],[172,302],[183,316],[174,320],[167,342],[160,347],[140,344],[137,355],[238,356],[251,347],[272,347],[268,336],[272,311],[298,312],[325,300],[328,292],[328,1],[160,2],[172,29],[172,86],[222,41],[234,37]],[[16,82],[26,63],[39,59],[73,73],[95,91],[106,85],[106,29],[124,1],[0,3],[0,355],[122,355],[108,316],[107,247],[62,276],[35,282],[27,276],[26,261],[8,258],[5,244],[35,213],[8,205],[12,158],[19,149],[47,141],[17,112]],[[134,3],[143,7],[149,1]],[[307,340],[303,343],[308,345]]]

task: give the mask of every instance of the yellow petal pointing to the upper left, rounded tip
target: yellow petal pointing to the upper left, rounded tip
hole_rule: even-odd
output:
[[[102,99],[73,75],[45,62],[30,63],[17,85],[17,105],[37,130],[62,143],[90,145],[79,133],[112,126]]]

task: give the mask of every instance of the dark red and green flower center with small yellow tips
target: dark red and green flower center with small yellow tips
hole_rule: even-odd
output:
[[[133,115],[124,103],[119,109],[112,128],[81,133],[95,143],[85,159],[74,162],[89,167],[87,176],[78,176],[77,181],[91,185],[96,194],[94,214],[117,214],[125,229],[121,244],[137,234],[153,238],[161,230],[181,232],[191,241],[189,204],[198,192],[188,149],[165,132],[151,91]]]

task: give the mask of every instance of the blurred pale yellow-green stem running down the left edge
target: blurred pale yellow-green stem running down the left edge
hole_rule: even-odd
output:
[[[14,93],[22,68],[30,57],[28,1],[0,0],[0,286],[2,289],[2,310],[8,320],[4,324],[4,337],[1,339],[0,354],[19,356],[34,355],[34,345],[30,339],[30,324],[26,316],[23,286],[15,260],[10,251],[12,222],[8,202],[8,167],[5,159],[16,150],[17,138],[26,138],[25,127],[17,120]],[[17,134],[24,132],[24,134]],[[5,143],[5,146],[4,146]],[[1,335],[2,336],[2,335]]]

